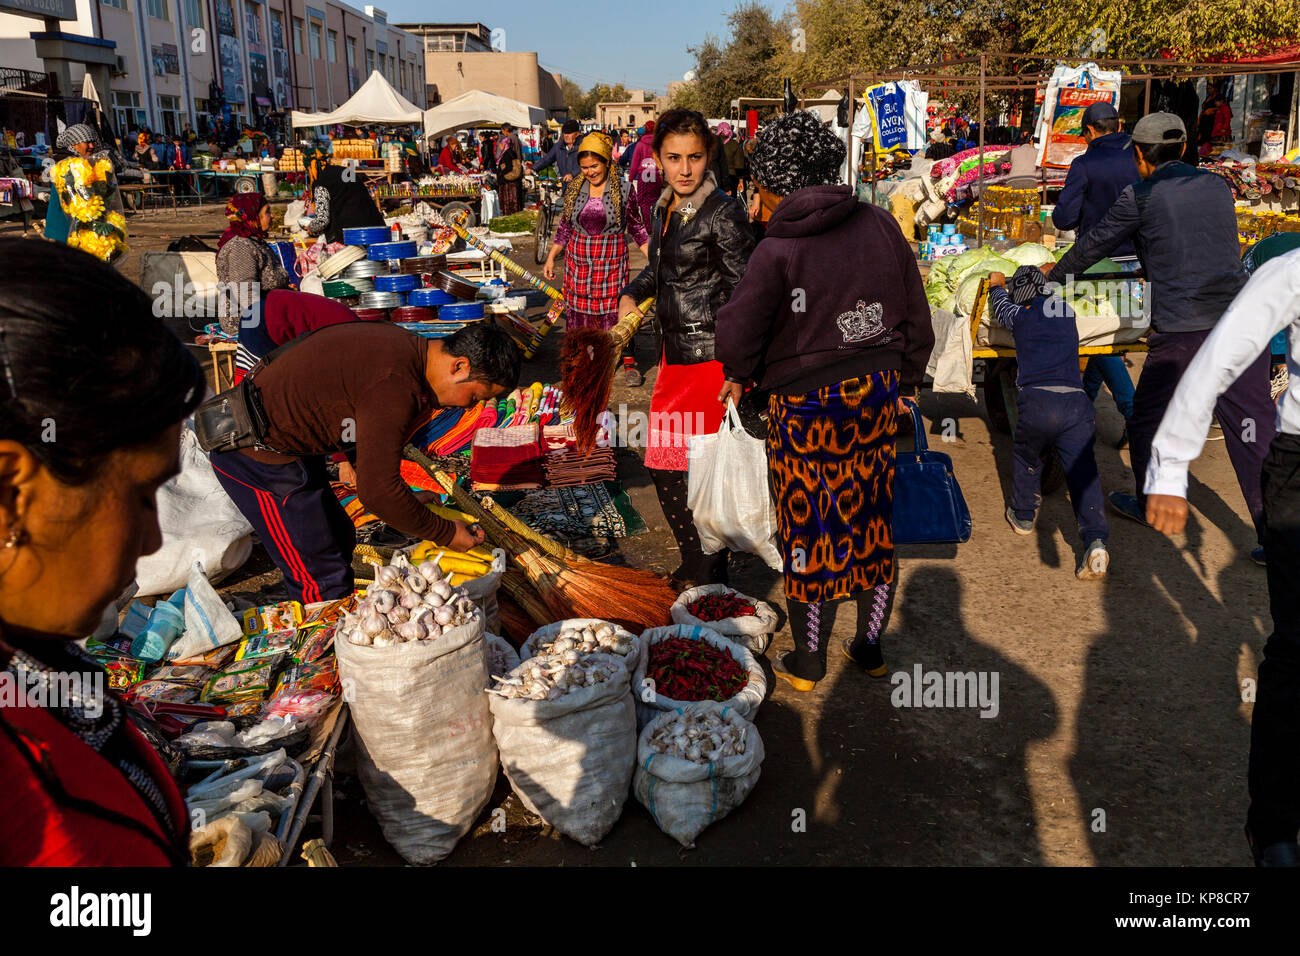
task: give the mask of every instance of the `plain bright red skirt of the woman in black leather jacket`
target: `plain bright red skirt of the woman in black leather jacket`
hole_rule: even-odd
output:
[[[723,389],[723,363],[670,365],[659,355],[659,375],[650,394],[646,429],[646,467],[686,471],[690,436],[712,434],[723,423],[718,393]]]

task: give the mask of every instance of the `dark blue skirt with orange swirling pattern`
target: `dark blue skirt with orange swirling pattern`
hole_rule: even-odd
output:
[[[785,596],[838,601],[893,581],[898,372],[768,399]]]

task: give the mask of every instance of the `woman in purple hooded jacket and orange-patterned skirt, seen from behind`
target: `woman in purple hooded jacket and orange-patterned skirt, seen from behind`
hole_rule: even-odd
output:
[[[897,587],[893,472],[901,394],[935,343],[920,272],[884,209],[840,186],[845,147],[810,112],[763,126],[749,157],[766,238],[718,311],[719,401],[770,393],[767,459],[794,650],[772,670],[796,691],[826,676],[836,604],[854,598],[844,653],[887,670]]]

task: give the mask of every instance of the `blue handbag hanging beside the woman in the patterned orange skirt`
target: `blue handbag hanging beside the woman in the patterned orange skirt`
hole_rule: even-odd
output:
[[[913,406],[915,451],[894,453],[893,536],[896,545],[962,544],[971,536],[971,512],[953,473],[953,459],[931,451],[926,421]]]

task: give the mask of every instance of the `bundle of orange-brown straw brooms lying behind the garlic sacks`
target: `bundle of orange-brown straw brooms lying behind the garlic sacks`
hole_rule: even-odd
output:
[[[528,578],[551,620],[599,618],[633,633],[672,623],[668,609],[677,592],[667,579],[634,567],[588,561],[529,528],[490,497],[480,503],[415,446],[407,445],[404,454],[442,485],[456,507],[478,519],[488,540],[504,550]],[[503,583],[530,618],[538,624],[551,623],[540,620],[541,609],[529,600],[530,594],[521,592],[517,579]]]

